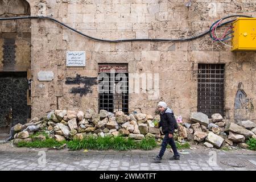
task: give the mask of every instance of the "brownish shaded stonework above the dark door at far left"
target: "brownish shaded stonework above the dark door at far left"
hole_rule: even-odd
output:
[[[0,17],[30,15],[26,1],[0,1]],[[7,67],[3,64],[5,39],[15,39],[15,60]],[[24,71],[31,68],[31,20],[0,21],[0,71]]]

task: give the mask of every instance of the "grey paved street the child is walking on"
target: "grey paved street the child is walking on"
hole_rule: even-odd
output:
[[[16,148],[11,143],[0,144],[0,170],[92,170],[92,171],[170,171],[170,170],[252,170],[256,171],[256,152],[249,150],[221,151],[204,147],[185,150],[180,160],[168,160],[170,150],[162,163],[154,163],[152,151],[68,151],[47,148]],[[233,164],[229,166],[226,164]],[[234,167],[240,165],[243,167]]]

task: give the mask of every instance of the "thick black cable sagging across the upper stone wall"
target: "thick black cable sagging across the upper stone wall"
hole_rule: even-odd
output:
[[[243,17],[247,17],[247,18],[252,18],[251,16],[247,16],[247,15],[230,15],[230,16],[226,16],[226,17],[224,17],[222,19],[227,19],[227,18],[231,18],[231,17],[235,17],[235,16],[243,16]],[[82,32],[77,31],[76,29],[74,29],[72,27],[69,27],[67,24],[64,24],[64,23],[60,22],[59,20],[56,20],[54,18],[47,17],[47,16],[17,16],[17,17],[10,17],[10,18],[0,18],[0,20],[16,20],[16,19],[49,19],[49,20],[52,20],[53,22],[61,24],[61,26],[67,27],[70,30],[77,32],[77,34],[85,36],[86,38],[89,38],[89,39],[92,39],[92,40],[97,40],[97,41],[100,41],[100,42],[112,42],[112,43],[118,43],[118,42],[138,42],[138,41],[144,41],[144,42],[183,42],[183,41],[194,40],[194,39],[200,38],[201,36],[204,36],[205,34],[210,33],[210,30],[213,27],[213,25],[219,21],[219,20],[217,20],[216,22],[214,22],[212,24],[212,26],[210,27],[210,30],[205,31],[205,32],[203,32],[203,33],[201,33],[199,35],[192,36],[191,38],[184,38],[184,39],[119,39],[119,40],[107,40],[107,39],[98,39],[98,38],[94,38],[92,36],[83,34]],[[234,20],[230,20],[228,22],[224,22],[224,23],[218,25],[217,27],[221,27],[224,24],[228,24],[228,23],[233,22],[233,21]],[[210,33],[210,38],[212,38],[211,33]]]

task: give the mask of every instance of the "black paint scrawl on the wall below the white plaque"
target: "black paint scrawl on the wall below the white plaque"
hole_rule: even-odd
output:
[[[67,85],[74,85],[74,84],[84,84],[84,87],[77,86],[73,87],[70,92],[73,94],[80,94],[80,97],[92,93],[92,88],[91,86],[97,84],[97,77],[86,77],[86,76],[81,76],[76,74],[75,78],[72,77],[67,77],[65,84]]]

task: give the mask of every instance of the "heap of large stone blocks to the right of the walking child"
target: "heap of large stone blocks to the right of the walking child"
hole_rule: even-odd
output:
[[[204,142],[205,147],[234,146],[247,148],[245,139],[255,137],[256,124],[249,120],[237,124],[223,119],[220,114],[213,114],[209,119],[203,113],[191,113],[191,123],[179,124],[179,137]]]

